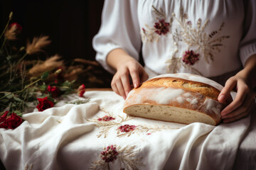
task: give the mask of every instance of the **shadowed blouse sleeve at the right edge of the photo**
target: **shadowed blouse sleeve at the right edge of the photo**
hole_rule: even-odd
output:
[[[243,37],[240,41],[240,59],[245,66],[247,59],[256,54],[256,1],[246,0]]]

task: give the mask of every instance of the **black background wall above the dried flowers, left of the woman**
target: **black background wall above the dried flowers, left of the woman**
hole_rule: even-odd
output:
[[[12,22],[23,27],[21,40],[49,35],[52,43],[48,55],[94,60],[92,38],[100,28],[103,4],[104,0],[0,0],[0,28],[13,11]]]

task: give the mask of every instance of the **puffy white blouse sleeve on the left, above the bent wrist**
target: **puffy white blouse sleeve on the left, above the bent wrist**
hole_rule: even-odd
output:
[[[135,60],[139,60],[141,38],[137,1],[105,0],[102,23],[99,32],[92,40],[92,46],[97,52],[97,62],[100,62],[102,67],[112,74],[115,71],[106,61],[110,51],[122,48]]]

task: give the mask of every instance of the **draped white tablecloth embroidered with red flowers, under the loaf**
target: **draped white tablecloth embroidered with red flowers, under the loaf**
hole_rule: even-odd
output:
[[[135,118],[123,104],[113,91],[87,91],[26,113],[15,130],[0,129],[1,162],[6,169],[233,169],[250,125],[250,116],[216,127]]]

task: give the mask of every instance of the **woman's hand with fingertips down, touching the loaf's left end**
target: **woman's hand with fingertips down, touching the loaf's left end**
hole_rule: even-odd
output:
[[[130,58],[117,65],[117,72],[114,74],[111,87],[115,93],[125,99],[129,91],[131,91],[132,85],[137,88],[140,83],[148,78],[149,75],[146,74],[142,65]],[[132,80],[132,85],[130,84],[130,79]]]

